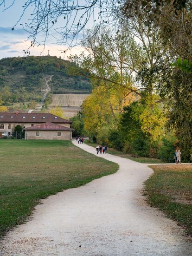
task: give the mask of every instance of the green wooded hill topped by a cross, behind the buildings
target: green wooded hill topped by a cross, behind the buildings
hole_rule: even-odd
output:
[[[40,101],[46,78],[53,93],[89,94],[88,79],[67,74],[68,60],[53,56],[29,56],[0,59],[0,94],[4,105]]]

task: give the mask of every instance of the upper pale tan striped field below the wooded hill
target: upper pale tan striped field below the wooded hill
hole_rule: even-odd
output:
[[[50,106],[79,107],[89,94],[53,94]]]

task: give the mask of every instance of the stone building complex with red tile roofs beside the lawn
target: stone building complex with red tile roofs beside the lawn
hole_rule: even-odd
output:
[[[71,139],[71,121],[49,113],[0,112],[0,137],[10,136],[16,125],[26,131],[26,139]],[[33,128],[34,127],[34,128]]]

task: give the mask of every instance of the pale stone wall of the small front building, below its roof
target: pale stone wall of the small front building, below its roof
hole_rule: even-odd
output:
[[[39,136],[36,136],[36,131],[26,131],[26,139],[71,139],[71,131],[60,131],[61,136],[58,136],[58,131],[39,131]]]

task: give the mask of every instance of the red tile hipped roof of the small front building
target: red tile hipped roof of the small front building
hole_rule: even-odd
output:
[[[74,131],[74,129],[72,128],[53,124],[51,122],[47,122],[40,125],[34,125],[28,128],[24,128],[24,130],[27,130],[27,131]]]

